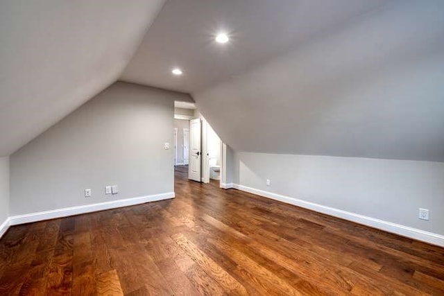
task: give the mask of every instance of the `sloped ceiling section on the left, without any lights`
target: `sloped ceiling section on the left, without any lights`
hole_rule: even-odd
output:
[[[117,80],[164,0],[0,0],[0,156]]]

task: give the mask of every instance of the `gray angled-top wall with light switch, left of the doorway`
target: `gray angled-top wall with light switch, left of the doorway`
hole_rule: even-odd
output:
[[[53,125],[10,157],[10,215],[174,191],[164,142],[180,96],[116,82]],[[119,194],[105,195],[111,184]]]

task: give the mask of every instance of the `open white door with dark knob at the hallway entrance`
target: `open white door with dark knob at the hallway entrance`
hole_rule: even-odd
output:
[[[189,121],[189,167],[188,179],[200,182],[200,119]]]

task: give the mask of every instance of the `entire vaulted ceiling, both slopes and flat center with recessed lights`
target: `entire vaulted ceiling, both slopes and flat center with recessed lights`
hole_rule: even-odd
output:
[[[190,93],[235,150],[444,162],[442,11],[441,0],[0,0],[0,156],[120,79]],[[214,42],[220,32],[230,42]]]

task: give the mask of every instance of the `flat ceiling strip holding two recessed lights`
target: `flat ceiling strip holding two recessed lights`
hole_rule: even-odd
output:
[[[343,26],[387,0],[169,0],[121,80],[197,92]],[[230,42],[214,37],[226,32]],[[180,67],[184,74],[173,76]]]

